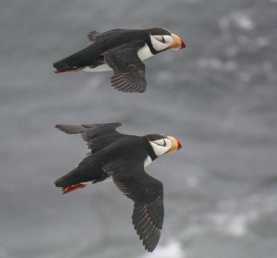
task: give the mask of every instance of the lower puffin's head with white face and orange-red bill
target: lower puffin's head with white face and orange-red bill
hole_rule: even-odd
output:
[[[165,153],[174,153],[182,148],[180,142],[171,136],[145,135],[144,137],[149,141],[157,157]]]

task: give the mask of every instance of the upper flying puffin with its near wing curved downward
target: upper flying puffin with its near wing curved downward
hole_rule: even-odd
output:
[[[91,31],[87,36],[93,44],[54,62],[55,73],[113,70],[111,86],[121,92],[145,92],[145,65],[142,60],[166,49],[186,48],[183,40],[166,28],[117,28],[105,33]]]

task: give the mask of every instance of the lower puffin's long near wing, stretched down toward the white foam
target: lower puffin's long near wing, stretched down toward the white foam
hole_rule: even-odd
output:
[[[138,160],[114,162],[103,168],[125,196],[134,200],[132,221],[148,252],[156,248],[163,226],[163,184],[144,171]]]

